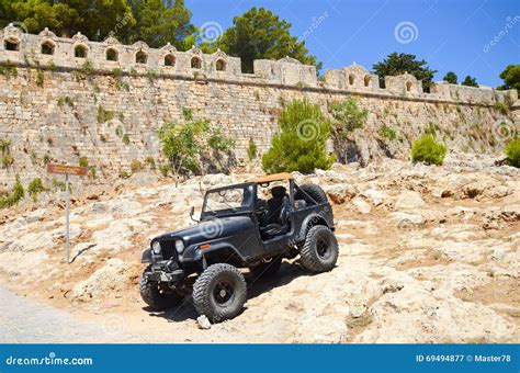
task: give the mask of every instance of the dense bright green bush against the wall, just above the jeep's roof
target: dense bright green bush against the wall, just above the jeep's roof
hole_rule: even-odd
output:
[[[292,101],[279,116],[281,132],[271,139],[271,148],[262,157],[265,172],[329,169],[335,157],[326,151],[330,137],[329,120],[319,105],[307,100]]]

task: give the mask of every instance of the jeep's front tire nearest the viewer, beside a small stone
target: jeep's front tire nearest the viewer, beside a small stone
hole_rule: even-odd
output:
[[[225,263],[212,264],[193,285],[193,303],[212,323],[237,316],[247,299],[247,284],[240,271]]]

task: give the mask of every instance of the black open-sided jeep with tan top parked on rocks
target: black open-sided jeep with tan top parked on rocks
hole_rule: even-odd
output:
[[[262,199],[269,188],[271,197]],[[193,218],[194,207],[191,208]],[[247,297],[238,268],[272,275],[283,258],[301,257],[312,272],[338,259],[332,208],[315,184],[290,173],[247,180],[206,192],[196,225],[158,236],[143,251],[149,263],[140,295],[155,309],[179,305],[192,293],[196,310],[218,323],[237,316]]]

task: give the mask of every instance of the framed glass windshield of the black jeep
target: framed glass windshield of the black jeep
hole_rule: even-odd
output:
[[[204,197],[204,215],[226,215],[250,211],[253,206],[253,185],[240,184],[210,190]]]

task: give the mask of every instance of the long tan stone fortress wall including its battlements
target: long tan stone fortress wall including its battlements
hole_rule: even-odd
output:
[[[99,43],[48,30],[32,35],[14,25],[0,30],[0,139],[11,142],[14,157],[0,169],[0,184],[12,183],[15,173],[27,180],[42,174],[48,159],[77,163],[86,157],[105,174],[128,169],[134,159],[159,160],[157,129],[180,120],[184,108],[236,138],[239,162],[247,160],[250,139],[260,152],[269,148],[278,113],[297,98],[326,108],[355,97],[370,112],[354,134],[362,161],[406,158],[432,124],[451,149],[498,152],[519,126],[516,91],[442,81],[427,93],[408,74],[385,77],[380,88],[377,76],[359,65],[318,79],[314,66],[289,57],[256,60],[255,74],[242,74],[240,59],[221,50],[155,49],[113,37]],[[396,138],[378,135],[382,126],[395,129]]]

